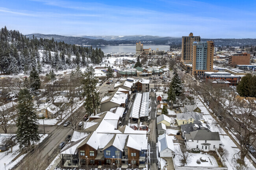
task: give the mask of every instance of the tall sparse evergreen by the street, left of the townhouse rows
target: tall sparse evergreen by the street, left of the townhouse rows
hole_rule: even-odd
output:
[[[95,70],[93,67],[87,67],[84,73],[85,79],[83,80],[83,91],[85,99],[85,109],[89,114],[94,114],[100,105],[100,97],[97,92],[96,84],[98,79],[95,77]]]

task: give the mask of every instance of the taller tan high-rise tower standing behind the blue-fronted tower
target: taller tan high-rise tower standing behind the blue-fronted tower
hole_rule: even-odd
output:
[[[200,36],[193,36],[193,33],[190,33],[189,36],[182,36],[181,62],[184,65],[192,64],[194,41],[201,41]]]

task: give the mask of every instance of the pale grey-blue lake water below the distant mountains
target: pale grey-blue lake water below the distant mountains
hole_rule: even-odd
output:
[[[119,46],[102,46],[100,47],[104,53],[135,53],[135,45],[119,45]],[[170,46],[167,45],[144,45],[144,49],[151,48],[152,50],[170,50]]]

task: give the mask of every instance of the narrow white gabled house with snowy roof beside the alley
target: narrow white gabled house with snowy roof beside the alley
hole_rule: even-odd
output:
[[[157,139],[158,152],[160,154],[160,157],[173,157],[174,145],[171,136],[168,136],[164,133],[163,135],[160,135]]]

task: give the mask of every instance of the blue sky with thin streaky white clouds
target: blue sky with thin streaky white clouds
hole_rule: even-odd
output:
[[[256,0],[0,0],[23,34],[256,38]]]

